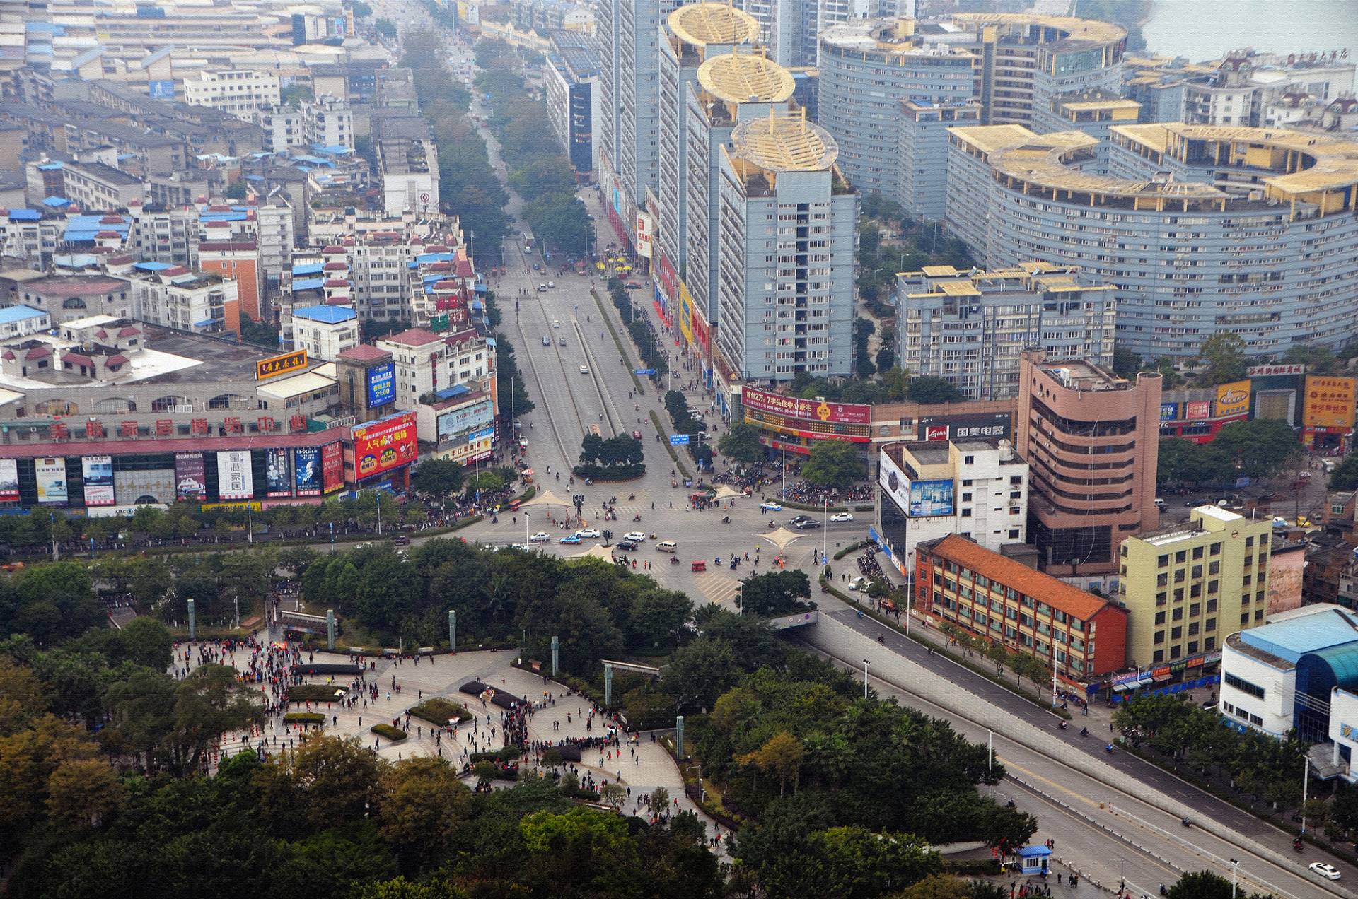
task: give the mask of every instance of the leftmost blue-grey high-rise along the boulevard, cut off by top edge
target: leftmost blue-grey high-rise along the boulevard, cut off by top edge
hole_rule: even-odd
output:
[[[598,7],[603,128],[599,166],[608,220],[622,244],[636,242],[637,213],[655,191],[660,128],[660,22],[682,0],[600,0]]]

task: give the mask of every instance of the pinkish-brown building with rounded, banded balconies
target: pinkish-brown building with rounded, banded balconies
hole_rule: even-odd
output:
[[[1023,354],[1017,443],[1031,466],[1028,542],[1042,570],[1115,573],[1122,542],[1158,526],[1160,382]]]

